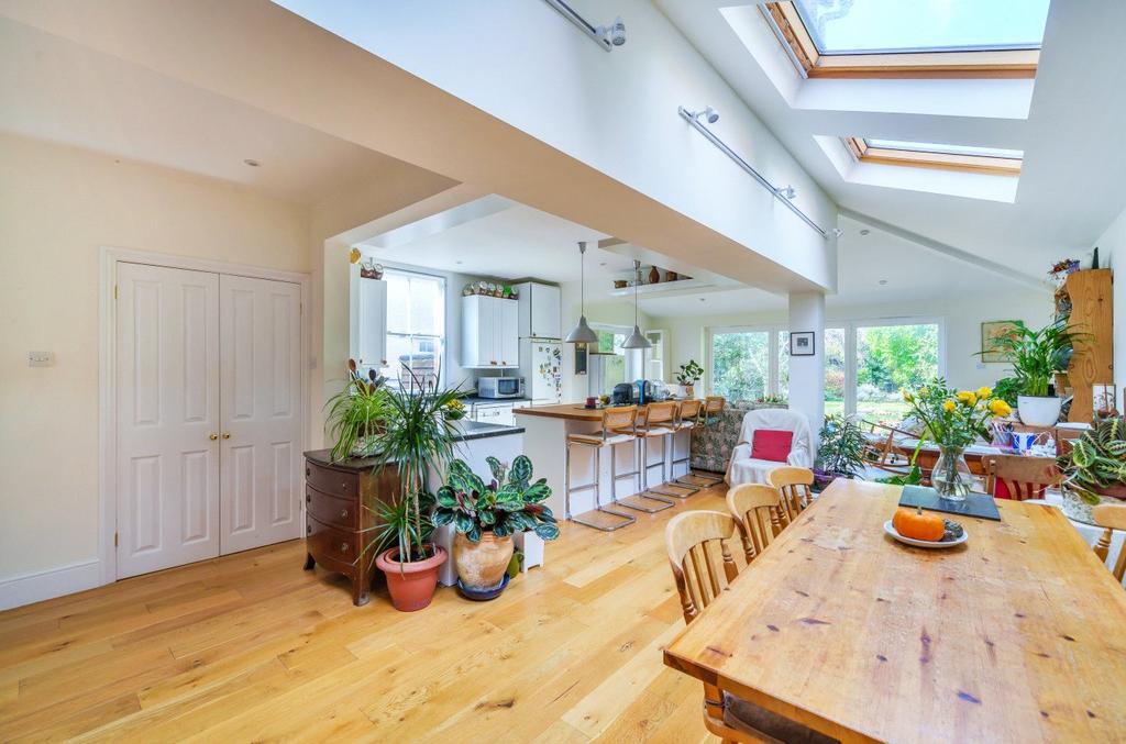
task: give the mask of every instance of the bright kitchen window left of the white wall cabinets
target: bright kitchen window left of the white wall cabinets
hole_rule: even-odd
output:
[[[387,269],[387,366],[381,370],[402,385],[436,379],[446,347],[446,281],[440,277]],[[413,373],[413,375],[411,374]]]

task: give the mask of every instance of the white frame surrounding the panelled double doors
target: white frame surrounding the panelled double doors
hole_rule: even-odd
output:
[[[301,447],[309,449],[310,419],[310,304],[311,277],[298,271],[268,269],[244,263],[138,251],[110,245],[99,246],[98,276],[98,558],[99,585],[117,581],[117,286],[118,263],[144,263],[169,269],[209,271],[253,279],[287,281],[301,287]],[[298,499],[302,522],[305,500]]]

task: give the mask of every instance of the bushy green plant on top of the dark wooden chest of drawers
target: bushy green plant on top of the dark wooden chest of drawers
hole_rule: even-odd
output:
[[[390,413],[386,380],[375,370],[365,379],[356,371],[356,360],[348,360],[348,384],[324,403],[325,427],[333,442],[330,457],[338,463],[349,457],[370,457],[379,446],[379,436]]]

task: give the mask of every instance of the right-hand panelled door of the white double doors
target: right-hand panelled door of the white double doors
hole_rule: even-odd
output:
[[[301,536],[301,288],[220,278],[223,554]]]

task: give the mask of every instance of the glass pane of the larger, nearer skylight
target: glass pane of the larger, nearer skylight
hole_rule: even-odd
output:
[[[1038,50],[1048,0],[795,0],[821,54]]]

